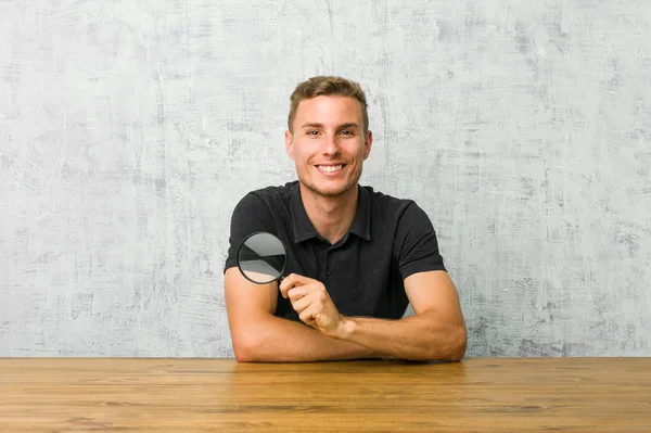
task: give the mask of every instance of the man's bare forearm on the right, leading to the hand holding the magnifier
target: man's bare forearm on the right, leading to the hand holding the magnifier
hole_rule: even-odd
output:
[[[463,323],[439,321],[434,313],[400,320],[348,317],[337,339],[400,359],[459,360],[465,353],[467,331]]]

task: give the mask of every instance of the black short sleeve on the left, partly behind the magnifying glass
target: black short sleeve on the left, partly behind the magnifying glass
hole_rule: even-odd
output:
[[[250,192],[235,205],[231,216],[228,256],[224,271],[238,266],[240,243],[256,231],[273,232],[273,220],[267,204],[254,192]]]

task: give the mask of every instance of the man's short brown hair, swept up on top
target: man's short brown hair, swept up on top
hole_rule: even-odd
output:
[[[306,100],[316,97],[349,97],[355,98],[361,104],[361,111],[363,113],[363,130],[369,130],[369,113],[367,111],[368,104],[366,102],[366,95],[361,86],[355,81],[350,81],[341,77],[333,76],[317,76],[311,77],[306,81],[299,82],[292,93],[290,115],[288,118],[288,127],[292,131],[292,124],[296,117],[296,110],[298,104]]]

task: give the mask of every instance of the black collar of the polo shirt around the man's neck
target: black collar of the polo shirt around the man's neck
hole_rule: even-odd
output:
[[[371,196],[369,191],[357,186],[357,211],[348,231],[358,237],[371,240]],[[294,242],[303,242],[319,235],[315,226],[307,217],[303,200],[301,199],[301,183],[296,181],[290,189],[290,213],[292,215],[292,228],[294,230]]]

